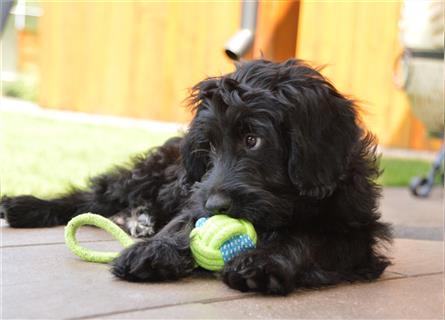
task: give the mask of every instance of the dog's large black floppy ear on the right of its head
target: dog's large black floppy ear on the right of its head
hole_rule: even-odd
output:
[[[354,102],[342,96],[316,70],[303,66],[303,78],[287,82],[281,96],[290,103],[289,178],[303,196],[323,199],[342,178],[360,139]],[[291,84],[291,85],[289,85]]]

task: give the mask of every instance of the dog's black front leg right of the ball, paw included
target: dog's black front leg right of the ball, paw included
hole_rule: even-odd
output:
[[[367,241],[351,244],[344,239],[338,245],[338,237],[331,240],[274,233],[261,239],[255,250],[232,259],[222,271],[223,280],[240,291],[285,295],[297,287],[376,279],[390,264]],[[334,265],[332,257],[337,259]]]

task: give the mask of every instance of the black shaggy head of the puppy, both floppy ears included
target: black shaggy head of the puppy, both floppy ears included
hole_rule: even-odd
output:
[[[329,197],[361,135],[353,102],[298,60],[240,64],[197,84],[192,105],[182,156],[202,205],[265,228]]]

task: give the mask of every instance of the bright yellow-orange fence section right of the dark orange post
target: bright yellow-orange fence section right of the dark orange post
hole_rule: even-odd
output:
[[[382,145],[431,148],[437,143],[413,123],[405,94],[392,82],[401,51],[400,6],[398,1],[302,1],[296,56],[327,64],[323,73],[360,100],[363,120]]]

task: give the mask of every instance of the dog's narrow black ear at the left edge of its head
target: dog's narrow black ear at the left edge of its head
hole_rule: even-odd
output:
[[[189,104],[195,112],[189,130],[181,146],[182,163],[190,182],[200,181],[209,163],[209,142],[206,132],[206,104],[212,99],[217,88],[217,79],[209,78],[192,88]]]

